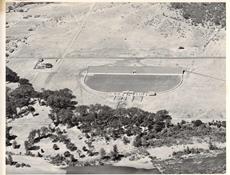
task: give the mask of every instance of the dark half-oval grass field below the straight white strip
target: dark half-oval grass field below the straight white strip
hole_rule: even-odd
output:
[[[181,76],[174,75],[93,75],[85,83],[92,89],[103,92],[162,92],[176,87]]]

